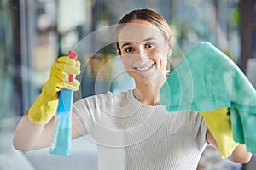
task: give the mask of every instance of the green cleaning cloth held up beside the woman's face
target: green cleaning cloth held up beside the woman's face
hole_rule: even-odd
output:
[[[233,138],[256,153],[256,91],[239,67],[210,42],[200,42],[160,89],[168,111],[230,110]]]

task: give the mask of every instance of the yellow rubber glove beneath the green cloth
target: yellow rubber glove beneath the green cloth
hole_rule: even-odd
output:
[[[200,113],[203,115],[210,133],[212,133],[218,144],[218,150],[222,158],[229,157],[238,145],[233,140],[229,110],[220,108],[215,111],[203,111]]]

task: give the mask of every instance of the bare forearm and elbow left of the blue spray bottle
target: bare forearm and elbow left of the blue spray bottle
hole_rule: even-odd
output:
[[[16,127],[14,147],[17,150],[36,150],[49,146],[52,136],[53,120],[46,125],[31,122],[27,113]]]

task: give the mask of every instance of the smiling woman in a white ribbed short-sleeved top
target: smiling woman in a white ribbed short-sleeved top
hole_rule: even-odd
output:
[[[218,148],[201,114],[168,113],[160,105],[173,43],[166,20],[154,10],[134,10],[119,21],[115,47],[136,88],[91,96],[73,105],[73,139],[91,135],[98,147],[99,169],[196,169],[208,143]],[[61,88],[79,87],[79,82],[67,81],[68,74],[79,74],[79,62],[61,57],[42,94],[20,120],[16,149],[50,145],[57,93]],[[245,146],[239,145],[230,160],[244,163],[250,157]]]

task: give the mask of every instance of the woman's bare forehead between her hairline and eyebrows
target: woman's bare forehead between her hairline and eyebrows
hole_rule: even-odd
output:
[[[145,20],[136,20],[126,23],[119,33],[119,42],[142,42],[145,39],[163,39],[163,33],[157,27]]]

